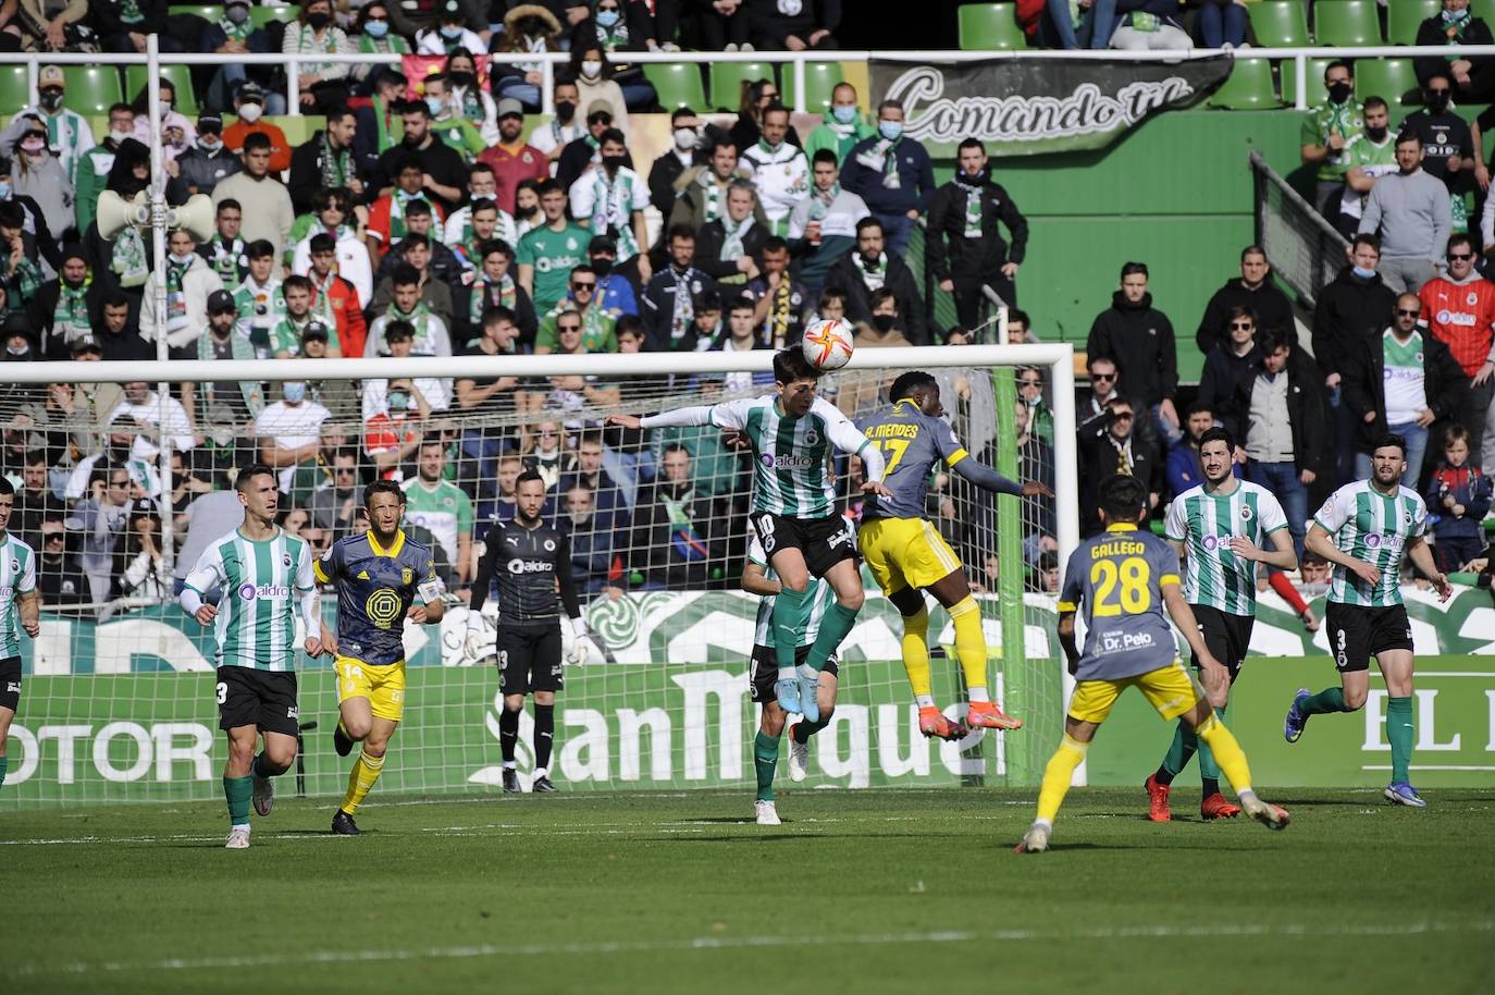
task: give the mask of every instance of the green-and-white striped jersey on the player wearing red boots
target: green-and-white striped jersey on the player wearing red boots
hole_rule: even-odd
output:
[[[1236,480],[1230,494],[1193,486],[1168,507],[1165,534],[1184,543],[1184,598],[1230,615],[1256,615],[1256,564],[1230,551],[1236,536],[1263,549],[1287,528],[1283,506],[1266,488]]]

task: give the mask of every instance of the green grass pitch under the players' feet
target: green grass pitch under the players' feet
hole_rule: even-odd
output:
[[[283,784],[283,790],[289,784]],[[1495,793],[1078,789],[280,799],[0,820],[0,992],[1489,992]]]

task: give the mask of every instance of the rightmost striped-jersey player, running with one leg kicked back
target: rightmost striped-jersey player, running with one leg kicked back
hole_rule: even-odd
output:
[[[1374,655],[1386,678],[1386,739],[1392,747],[1386,800],[1423,808],[1426,802],[1410,781],[1416,730],[1411,721],[1411,622],[1401,597],[1402,557],[1432,578],[1440,600],[1452,597],[1453,585],[1438,572],[1423,539],[1428,506],[1416,491],[1401,485],[1405,470],[1407,443],[1401,435],[1383,435],[1371,450],[1371,479],[1344,485],[1313,516],[1304,549],[1334,564],[1325,631],[1340,670],[1340,687],[1317,694],[1299,688],[1287,709],[1283,736],[1298,742],[1310,715],[1363,708]]]

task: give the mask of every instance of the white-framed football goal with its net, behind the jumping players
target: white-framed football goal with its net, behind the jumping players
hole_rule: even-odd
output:
[[[737,585],[750,497],[746,459],[716,429],[625,438],[601,423],[613,411],[641,414],[764,394],[773,389],[771,361],[771,352],[755,350],[12,364],[0,416],[15,425],[25,413],[34,422],[49,411],[37,428],[66,435],[70,455],[45,474],[66,501],[57,513],[61,525],[40,516],[31,542],[42,588],[52,594],[43,596],[40,637],[24,640],[24,693],[0,811],[218,797],[224,745],[212,700],[211,637],[176,607],[170,570],[152,576],[152,563],[160,569],[170,560],[152,561],[152,552],[163,552],[161,519],[175,521],[175,548],[164,552],[182,560],[175,570],[182,576],[202,530],[214,522],[227,522],[221,531],[233,527],[236,501],[214,489],[226,491],[233,468],[256,461],[266,444],[274,450],[280,434],[266,426],[269,414],[251,419],[244,397],[226,392],[260,385],[260,401],[274,404],[283,383],[309,385],[308,402],[327,410],[309,429],[299,420],[281,425],[280,438],[281,455],[299,452],[298,432],[320,440],[315,458],[281,468],[286,527],[315,549],[357,527],[356,501],[341,486],[347,479],[402,474],[411,495],[407,522],[438,549],[438,566],[457,591],[471,584],[492,516],[510,513],[505,486],[511,489],[517,468],[540,470],[549,486],[546,515],[573,537],[583,610],[598,642],[585,666],[565,667],[558,694],[552,778],[562,790],[750,790],[758,717],[748,670],[758,600]],[[997,391],[991,374],[1029,367],[1045,377],[1052,446],[1024,455],[1012,394]],[[1044,590],[1038,558],[1049,552],[1063,564],[1078,543],[1073,352],[1067,344],[861,349],[822,380],[822,394],[860,419],[887,402],[888,385],[906,370],[940,380],[945,407],[973,458],[1008,476],[1039,459],[1052,479],[1052,501],[997,503],[957,474],[937,474],[930,506],[934,527],[984,591],[978,601],[994,696],[1029,724],[1018,733],[978,732],[958,744],[922,739],[898,660],[900,616],[864,570],[867,604],[843,645],[836,717],[815,739],[807,784],[1032,786],[1063,718],[1055,598]],[[517,388],[502,392],[508,399],[463,407],[481,394],[463,382],[486,388],[499,377],[517,377]],[[170,404],[154,397],[158,382],[175,385],[176,398],[181,385],[193,385],[185,434],[172,423]],[[88,386],[94,383],[102,386]],[[55,385],[78,385],[72,413],[48,407]],[[142,395],[142,388],[123,385],[150,388]],[[399,417],[390,416],[392,398],[407,405]],[[117,410],[127,414],[109,420]],[[160,449],[167,458],[155,458]],[[440,464],[432,480],[420,479],[423,458]],[[586,485],[598,459],[611,491]],[[339,473],[344,468],[354,473]],[[860,468],[843,459],[836,473],[839,507],[855,515]],[[123,491],[114,489],[118,483]],[[19,513],[12,519],[12,531],[18,528]],[[111,530],[115,546],[100,566],[99,543]],[[496,604],[489,597],[478,615],[466,597],[449,600],[440,625],[407,627],[407,711],[381,793],[496,790]],[[324,593],[321,603],[332,624],[335,598]],[[936,697],[958,715],[964,688],[952,627],[933,598],[930,607]],[[317,723],[306,730],[296,783],[306,795],[335,796],[347,763],[326,742],[336,718],[330,661],[298,652],[296,666],[300,721]],[[531,735],[525,715],[523,780],[534,766]]]

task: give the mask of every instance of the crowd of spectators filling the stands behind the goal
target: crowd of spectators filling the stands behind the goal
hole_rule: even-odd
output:
[[[167,196],[209,195],[217,229],[202,244],[170,233],[164,314],[150,238],[127,227],[105,239],[96,217],[103,190],[130,199],[148,183],[147,94],[109,108],[96,142],[66,106],[66,75],[42,66],[37,105],[0,133],[4,359],[151,359],[158,338],[172,358],[205,361],[739,352],[792,344],[815,317],[851,320],[858,349],[958,347],[990,331],[984,287],[1014,305],[1012,341],[1041,338],[1015,310],[1029,223],[981,142],[961,142],[955,175],[940,184],[928,151],[903,135],[896,100],[843,82],[801,136],[765,78],[743,88],[734,121],[673,111],[673,148],[634,160],[629,118],[656,97],[625,64],[628,51],[668,49],[676,37],[727,49],[836,43],[840,4],[792,6],[791,15],[759,0],[562,0],[493,21],[459,0],[369,0],[351,13],[308,0],[293,24],[250,30],[235,0],[188,43],[181,15],[158,3],[69,4],[51,22],[61,37],[88,25],[91,40],[76,43],[106,51],[139,51],[144,31],[161,30],[167,51],[411,51],[446,61],[419,81],[419,99],[408,96],[417,81],[392,67],[300,63],[299,109],[324,126],[296,147],[266,120],[287,108],[284,81],[260,66],[209,69],[196,118],[160,81]],[[1139,13],[1166,21],[1153,10],[1166,6],[1121,15],[1115,34],[1135,33]],[[1214,6],[1229,22],[1232,4],[1203,9]],[[1109,6],[1079,9],[1097,19]],[[16,37],[28,51],[64,46],[51,27],[37,36],[24,18],[0,21],[0,39]],[[537,70],[481,55],[561,49],[571,61],[556,78],[556,114],[531,129]],[[1117,470],[1147,480],[1160,515],[1199,480],[1199,435],[1223,423],[1239,441],[1241,473],[1287,509],[1301,554],[1310,507],[1363,476],[1368,446],[1390,429],[1408,438],[1408,486],[1440,516],[1440,564],[1477,560],[1485,474],[1495,471],[1495,284],[1482,272],[1495,253],[1495,198],[1483,199],[1480,127],[1452,115],[1449,97],[1483,76],[1458,61],[1422,69],[1428,106],[1395,130],[1384,100],[1350,96],[1346,63],[1329,66],[1329,100],[1305,118],[1317,205],[1354,236],[1344,271],[1319,295],[1308,341],[1265,253],[1248,247],[1241,275],[1197,322],[1203,374],[1190,392],[1147,265],[1121,268],[1090,331],[1090,377],[1076,398],[1082,531],[1099,528],[1094,488]],[[958,317],[951,328],[933,319],[940,296]],[[1020,476],[1051,485],[1049,388],[1039,370],[1017,380]],[[994,462],[990,380],[943,383],[963,435]],[[178,385],[161,404],[147,383],[10,385],[0,388],[0,468],[18,482],[13,528],[39,552],[51,607],[109,612],[118,598],[170,593],[202,545],[238,521],[227,488],[251,461],[280,471],[284,525],[318,552],[362,527],[363,483],[404,480],[410,521],[429,533],[463,596],[477,539],[513,515],[523,468],[547,483],[547,518],[568,524],[585,591],[725,587],[743,555],[745,456],[715,432],[646,437],[601,417],[620,404],[664,405],[682,389],[755,386],[765,379],[229,380]],[[851,414],[879,402],[879,383],[837,386]],[[160,446],[172,449],[175,576],[160,548]],[[860,468],[840,471],[855,494]],[[993,582],[990,501],[943,479],[930,501],[966,561],[984,564],[978,579]],[[1055,590],[1054,509],[1024,501],[1032,585]],[[848,497],[848,515],[857,504]]]

